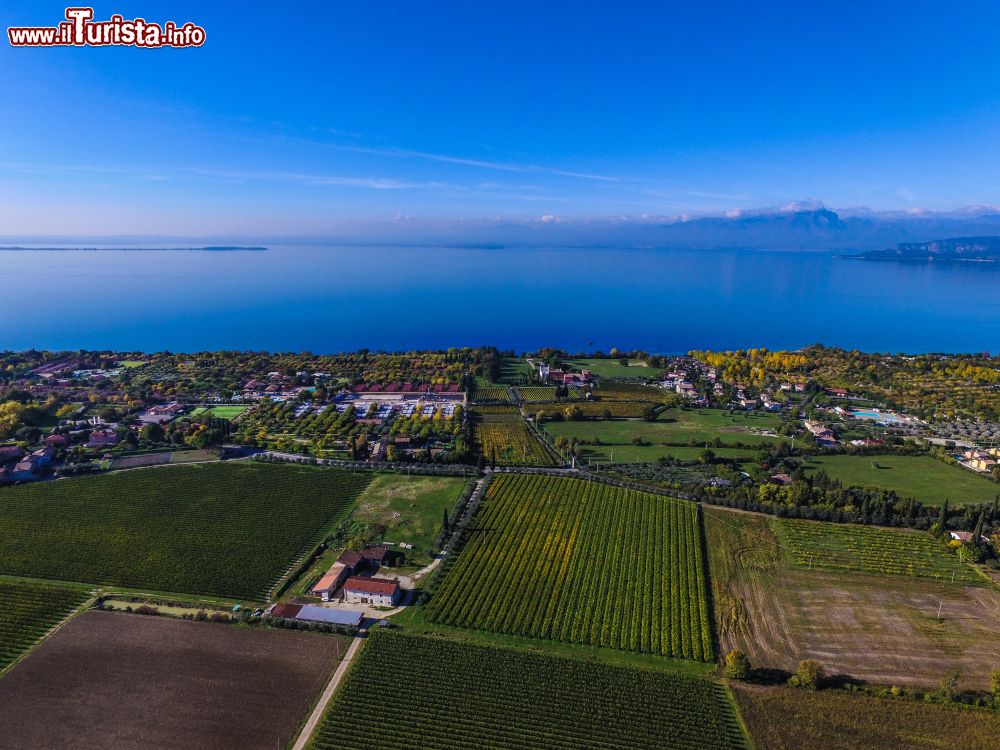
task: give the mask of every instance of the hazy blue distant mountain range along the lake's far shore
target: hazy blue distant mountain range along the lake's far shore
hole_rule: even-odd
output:
[[[784,209],[732,212],[725,216],[537,219],[415,219],[402,217],[344,227],[336,233],[299,236],[208,237],[0,237],[0,242],[205,243],[211,245],[288,243],[340,245],[443,245],[502,251],[504,247],[816,250],[841,255],[930,246],[942,237],[979,240],[1000,236],[1000,211],[977,207],[951,213],[841,212],[808,204]],[[87,245],[90,246],[90,245]],[[886,251],[885,248],[892,248]],[[903,255],[909,250],[899,251]],[[924,252],[923,249],[913,252]],[[924,257],[944,257],[928,250]],[[960,253],[963,255],[964,252]]]

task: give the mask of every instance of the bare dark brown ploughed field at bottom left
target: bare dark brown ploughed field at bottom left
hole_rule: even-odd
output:
[[[335,636],[86,612],[0,680],[3,744],[285,747],[345,650]]]

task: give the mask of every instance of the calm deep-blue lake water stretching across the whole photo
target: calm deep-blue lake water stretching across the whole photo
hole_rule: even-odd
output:
[[[0,252],[0,349],[1000,350],[1000,264],[273,246]]]

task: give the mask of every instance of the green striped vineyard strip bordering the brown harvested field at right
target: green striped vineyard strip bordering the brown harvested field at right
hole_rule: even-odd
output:
[[[983,583],[984,578],[927,533],[877,526],[774,519],[789,562],[800,567],[873,575]]]

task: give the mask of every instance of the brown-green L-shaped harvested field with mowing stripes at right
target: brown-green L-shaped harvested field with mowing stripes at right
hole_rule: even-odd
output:
[[[954,669],[985,690],[1000,664],[1000,593],[909,576],[808,570],[782,555],[770,519],[703,513],[720,653],[792,671],[800,659],[885,685],[937,687]],[[941,620],[938,621],[938,607]]]

